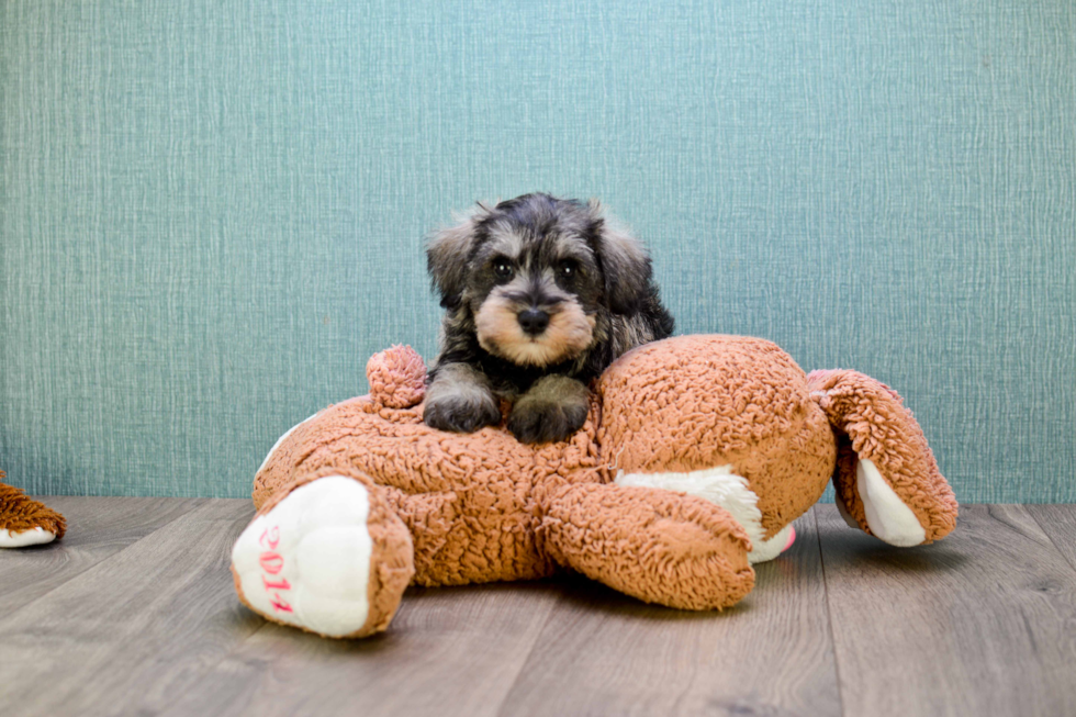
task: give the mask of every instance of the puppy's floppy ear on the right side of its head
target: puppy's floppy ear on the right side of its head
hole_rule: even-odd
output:
[[[651,293],[653,272],[650,256],[627,227],[605,213],[597,200],[589,202],[595,220],[597,254],[605,278],[605,298],[609,311],[631,315],[642,309]]]

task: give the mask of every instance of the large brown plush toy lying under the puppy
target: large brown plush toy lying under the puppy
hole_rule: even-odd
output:
[[[595,382],[569,440],[423,423],[426,370],[378,354],[370,394],[285,434],[236,541],[239,598],[330,637],[384,630],[404,589],[581,572],[684,609],[733,605],[832,477],[853,527],[896,546],[953,529],[956,501],[911,413],[854,371],[805,376],[775,345],[681,336]]]

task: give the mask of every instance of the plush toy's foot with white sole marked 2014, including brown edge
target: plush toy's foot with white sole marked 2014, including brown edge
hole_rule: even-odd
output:
[[[327,637],[384,630],[414,573],[411,534],[366,475],[295,481],[232,551],[236,592],[267,619]]]

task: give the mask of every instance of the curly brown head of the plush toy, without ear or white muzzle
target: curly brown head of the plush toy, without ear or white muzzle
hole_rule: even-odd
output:
[[[792,357],[760,338],[720,339],[681,336],[675,351],[648,344],[609,367],[598,440],[627,473],[731,463],[772,537],[826,490],[833,435]],[[640,370],[651,365],[661,370]]]

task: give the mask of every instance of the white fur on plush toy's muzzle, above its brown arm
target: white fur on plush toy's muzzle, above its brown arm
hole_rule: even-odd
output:
[[[617,473],[618,485],[660,488],[704,497],[721,506],[743,526],[751,540],[748,560],[752,563],[765,562],[776,558],[788,542],[792,524],[786,525],[770,540],[765,540],[762,528],[762,512],[759,496],[748,488],[742,475],[732,472],[732,466],[718,466],[685,473]]]

